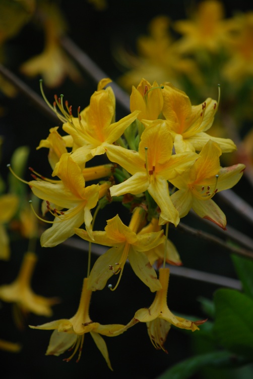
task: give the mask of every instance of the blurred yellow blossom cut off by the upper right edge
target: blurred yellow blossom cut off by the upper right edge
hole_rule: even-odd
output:
[[[222,69],[223,77],[231,83],[241,84],[253,75],[253,12],[234,18],[235,27],[228,38],[230,57]]]

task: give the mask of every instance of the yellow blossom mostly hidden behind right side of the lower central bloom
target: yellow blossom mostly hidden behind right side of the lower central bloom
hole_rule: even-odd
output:
[[[151,233],[151,232],[158,232],[161,230],[161,225],[159,225],[157,218],[152,218],[151,222],[142,228],[141,231],[139,231],[139,235],[144,233]],[[154,265],[155,262],[157,262],[157,267],[160,267],[161,264],[164,261],[164,251],[166,249],[166,263],[180,266],[182,264],[179,254],[176,250],[176,247],[174,244],[167,239],[167,241],[164,241],[163,244],[160,244],[153,249],[146,252],[146,255],[150,261],[151,266]]]

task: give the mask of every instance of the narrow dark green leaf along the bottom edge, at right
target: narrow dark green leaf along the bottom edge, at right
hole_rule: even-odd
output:
[[[205,366],[212,367],[229,367],[230,365],[240,365],[244,361],[241,358],[234,357],[228,351],[217,351],[207,354],[196,355],[185,361],[175,364],[156,379],[186,379],[191,377]]]

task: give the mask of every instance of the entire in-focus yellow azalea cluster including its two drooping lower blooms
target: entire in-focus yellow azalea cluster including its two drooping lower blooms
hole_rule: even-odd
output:
[[[193,209],[225,229],[226,217],[213,198],[235,185],[245,166],[221,167],[222,153],[236,147],[231,139],[207,133],[219,100],[208,98],[192,106],[186,93],[172,84],[151,85],[142,79],[132,89],[131,113],[116,121],[115,97],[109,83],[109,79],[98,83],[90,104],[82,111],[78,109],[77,117],[62,96],[55,97],[53,106],[47,102],[62,121],[66,134],[61,135],[57,127],[51,128],[39,144],[39,148],[49,151],[52,178],[31,169],[34,180],[26,183],[43,200],[43,216],[53,216],[53,220],[41,218],[51,224],[41,235],[43,247],[54,247],[74,234],[91,244],[109,247],[91,270],[88,264],[77,313],[70,319],[31,327],[53,329],[46,354],[59,355],[74,349],[67,361],[77,351],[79,360],[84,336],[90,333],[111,368],[101,335],[115,337],[146,322],[153,345],[165,350],[171,325],[195,331],[205,322],[176,316],[168,309],[169,269],[165,263],[181,264],[175,246],[167,238],[168,225],[177,226]],[[96,156],[101,156],[104,163],[92,165]],[[94,230],[99,210],[112,202],[129,209],[129,224],[116,214],[107,220],[104,231]],[[108,285],[114,291],[127,260],[140,280],[156,293],[153,304],[138,310],[127,325],[92,321],[92,292],[102,290],[111,276],[118,275],[116,285]],[[163,265],[159,277],[155,264]]]

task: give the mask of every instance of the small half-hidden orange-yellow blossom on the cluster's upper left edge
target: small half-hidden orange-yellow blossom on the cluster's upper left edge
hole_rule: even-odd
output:
[[[72,147],[73,139],[71,135],[66,135],[62,137],[58,133],[58,126],[49,129],[50,134],[46,139],[40,141],[37,150],[40,148],[48,148],[48,161],[52,169],[54,170],[56,163],[59,162],[62,154],[68,153],[67,147]]]

